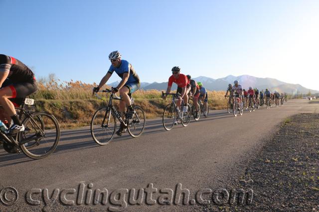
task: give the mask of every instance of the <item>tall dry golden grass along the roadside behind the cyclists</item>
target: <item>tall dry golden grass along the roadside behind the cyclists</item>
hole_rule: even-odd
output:
[[[45,84],[39,83],[38,91],[30,98],[35,99],[35,110],[52,113],[59,120],[61,127],[88,126],[95,110],[106,104],[105,96],[102,99],[92,96],[92,88],[96,86],[81,81],[51,80]],[[226,108],[224,93],[208,91],[210,109]],[[140,89],[133,93],[135,104],[145,110],[147,118],[160,117],[165,105],[170,103],[171,99],[163,100],[160,96],[161,91],[158,90]],[[117,106],[118,101],[114,101],[114,105]]]

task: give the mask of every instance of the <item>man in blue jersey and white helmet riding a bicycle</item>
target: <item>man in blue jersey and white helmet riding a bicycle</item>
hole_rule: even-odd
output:
[[[118,86],[112,88],[112,93],[120,92],[124,101],[120,101],[119,112],[121,113],[122,118],[125,116],[125,107],[128,106],[127,118],[132,119],[133,114],[135,113],[134,108],[131,104],[130,95],[140,88],[140,78],[135,72],[133,66],[125,60],[121,59],[122,56],[120,52],[114,51],[109,55],[109,60],[111,61],[111,66],[107,74],[101,79],[100,84],[97,87],[93,88],[94,92],[99,91],[99,89],[109,80],[112,73],[115,71],[122,80]],[[120,129],[117,131],[117,135],[121,136],[124,126],[121,125]]]

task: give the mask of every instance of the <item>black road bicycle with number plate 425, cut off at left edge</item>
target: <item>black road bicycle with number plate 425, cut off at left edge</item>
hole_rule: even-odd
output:
[[[60,141],[60,126],[56,118],[48,112],[25,110],[24,105],[33,105],[34,100],[24,98],[15,110],[22,120],[24,131],[8,135],[0,131],[3,149],[9,153],[21,151],[32,159],[41,159],[50,155]]]

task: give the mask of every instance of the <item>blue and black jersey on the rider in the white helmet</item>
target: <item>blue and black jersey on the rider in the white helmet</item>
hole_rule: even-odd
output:
[[[129,78],[128,78],[128,81],[126,82],[126,84],[129,84],[132,82],[140,83],[140,78],[139,78],[138,74],[135,72],[133,66],[128,61],[121,60],[121,65],[118,68],[111,65],[108,72],[110,72],[112,74],[114,71],[122,79],[123,79],[124,73],[129,73]]]

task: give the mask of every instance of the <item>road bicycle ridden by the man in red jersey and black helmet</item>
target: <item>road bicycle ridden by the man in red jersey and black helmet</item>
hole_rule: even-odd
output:
[[[186,127],[189,124],[190,116],[191,116],[191,106],[189,103],[187,103],[187,112],[183,112],[183,102],[184,100],[181,100],[181,109],[179,110],[176,105],[176,101],[179,100],[180,94],[179,93],[164,93],[161,92],[161,96],[164,97],[164,95],[171,95],[172,100],[171,103],[166,105],[164,108],[163,116],[162,116],[162,122],[163,127],[165,130],[169,131],[173,128],[175,122],[178,122],[180,120],[182,126]]]

